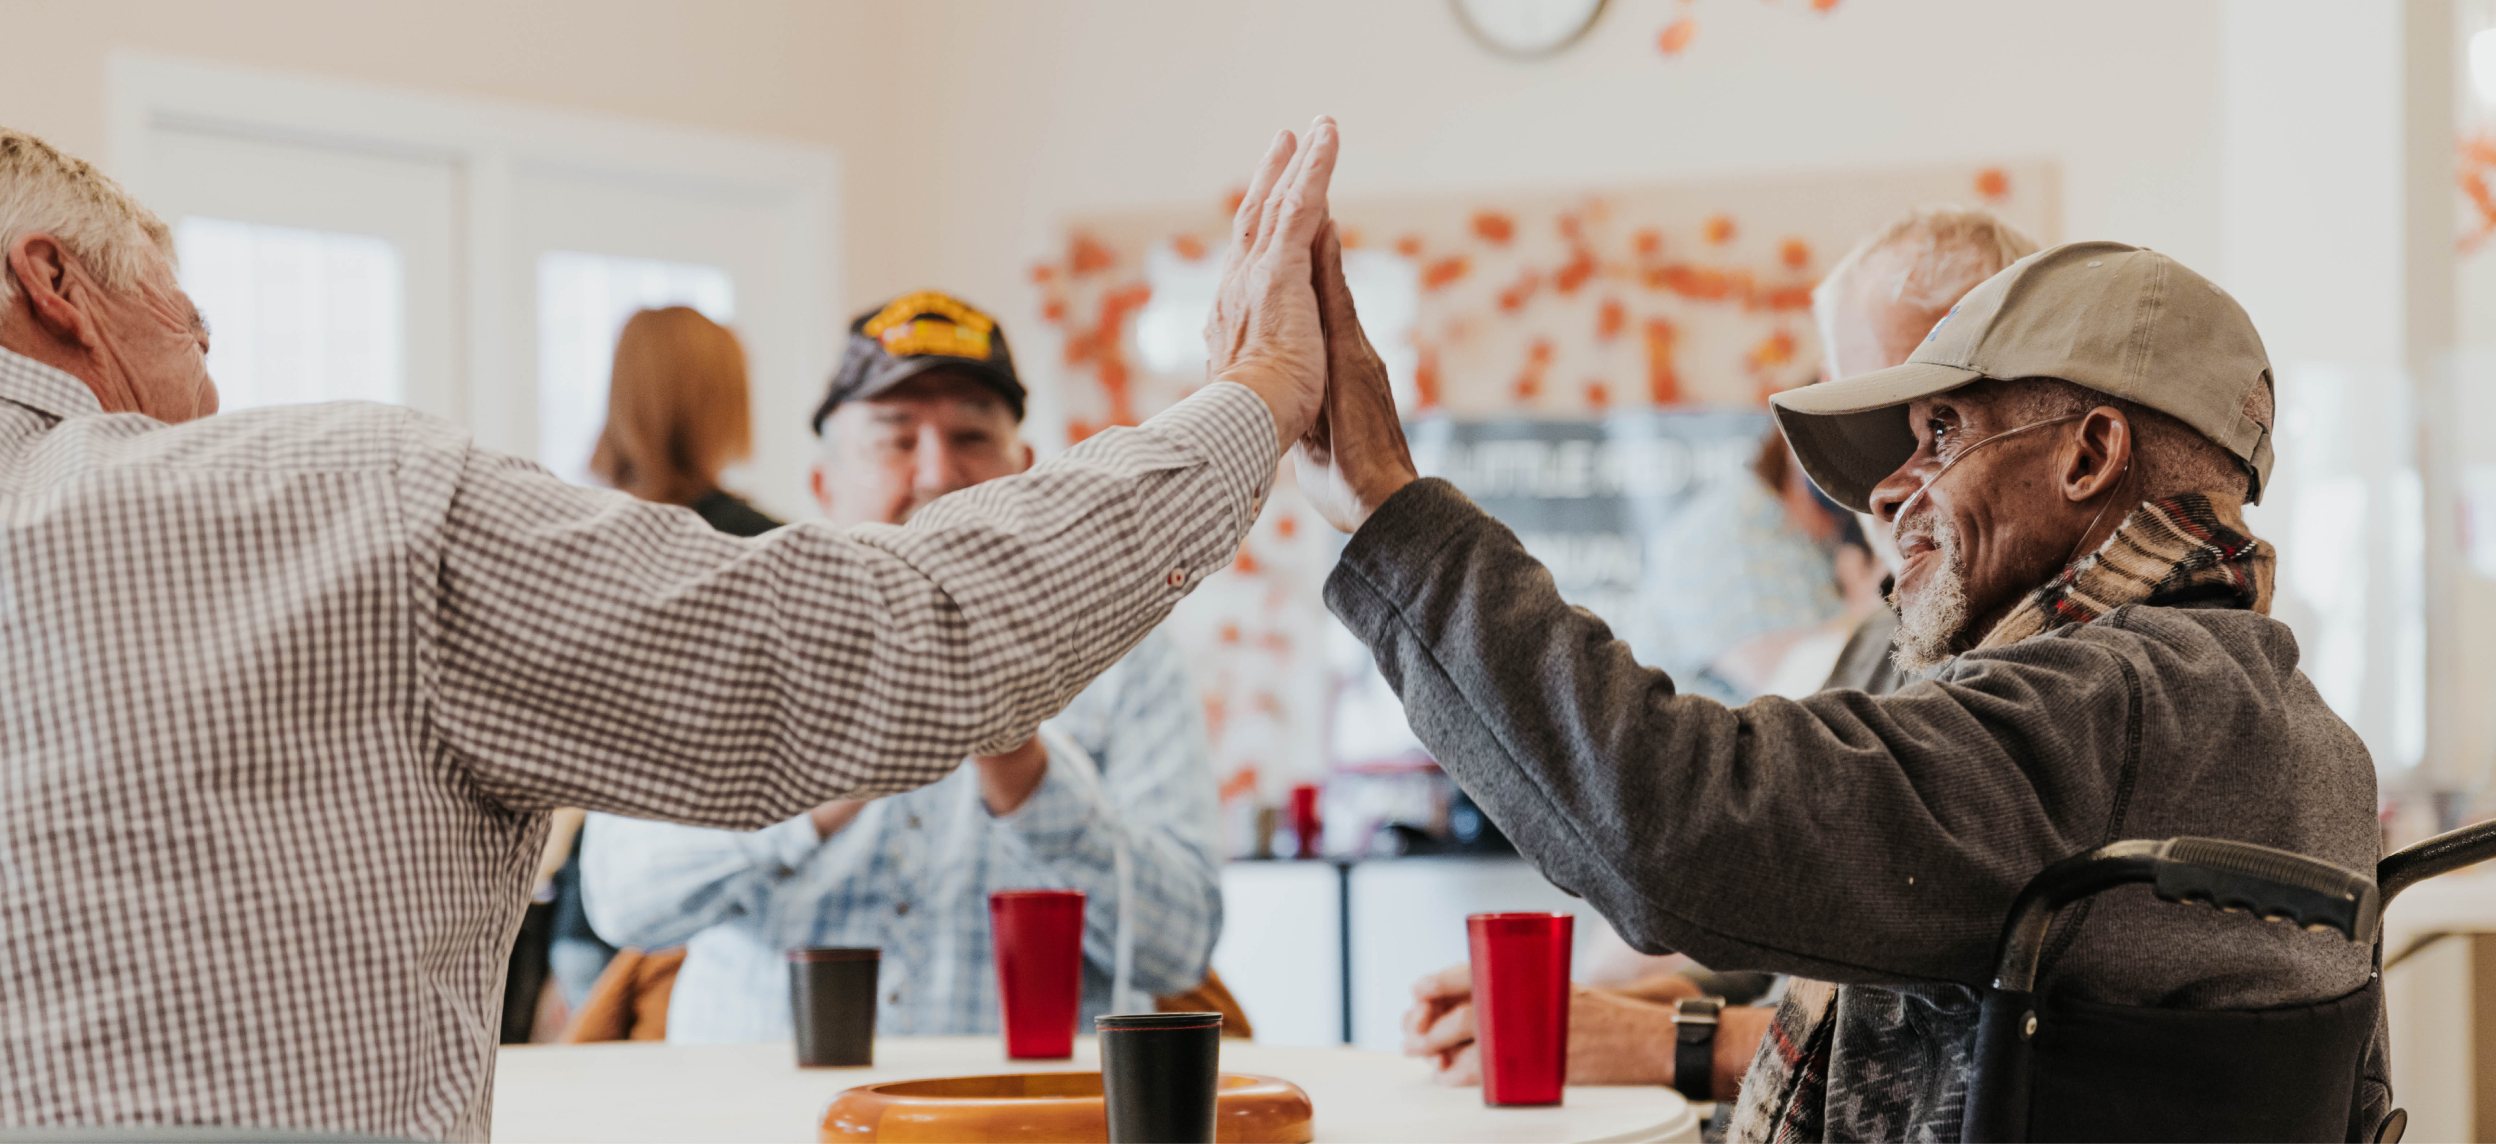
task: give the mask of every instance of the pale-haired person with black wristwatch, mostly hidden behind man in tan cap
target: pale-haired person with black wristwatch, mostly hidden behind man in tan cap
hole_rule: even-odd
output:
[[[1857,242],[1812,290],[1812,317],[1820,325],[1820,377],[1845,380],[1904,362],[1962,295],[2032,252],[2037,252],[2037,240],[1987,210],[1919,207],[1899,215]],[[1762,482],[1782,490],[1787,507],[1797,507],[1792,482],[1805,480],[1802,465],[1795,462],[1782,435],[1775,452],[1762,452],[1760,467],[1767,470]],[[1837,520],[1817,505],[1817,490],[1800,507],[1820,510],[1830,522]],[[1889,545],[1887,525],[1862,517],[1862,527],[1852,535],[1862,537],[1882,567],[1894,574],[1897,547]],[[1862,594],[1862,582],[1874,577],[1867,577],[1862,567],[1845,565],[1850,560],[1845,547],[1840,547],[1840,584],[1850,597]],[[1887,597],[1889,589],[1892,584],[1882,577],[1879,597]],[[1879,604],[1850,607],[1850,614],[1860,614],[1860,622],[1845,634],[1837,664],[1825,667],[1822,689],[1852,687],[1887,694],[1912,679],[1889,657],[1897,612]],[[1617,944],[1617,939],[1612,942]],[[1572,984],[1570,1082],[1672,1084],[1697,1099],[1720,1099],[1730,1109],[1742,1072],[1770,1029],[1772,1009],[1740,1004],[1742,992],[1762,997],[1757,984],[1757,974],[1707,974],[1695,967],[1652,972],[1615,987]],[[1765,999],[1782,994],[1785,982],[1777,979],[1767,987]],[[1710,1012],[1707,997],[1722,997],[1730,1007]],[[1682,1002],[1695,1002],[1687,1007],[1687,1019]],[[1707,1017],[1715,1017],[1717,1024],[1697,1024]],[[1675,1049],[1685,1042],[1682,1032],[1710,1047],[1707,1059],[1715,1062],[1715,1069],[1705,1087],[1685,1082],[1672,1069]],[[1413,1009],[1405,1012],[1405,1052],[1433,1057],[1443,1084],[1480,1084],[1468,967],[1448,967],[1413,984]]]

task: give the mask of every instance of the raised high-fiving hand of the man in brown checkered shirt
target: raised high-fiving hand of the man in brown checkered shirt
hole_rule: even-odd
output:
[[[1335,175],[1335,120],[1318,117],[1300,147],[1280,132],[1231,220],[1206,352],[1216,382],[1241,382],[1273,410],[1275,457],[1308,435],[1325,395],[1325,332],[1310,282],[1310,245]]]

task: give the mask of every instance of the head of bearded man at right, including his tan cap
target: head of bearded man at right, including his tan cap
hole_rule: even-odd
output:
[[[2109,505],[2204,495],[2214,522],[2241,532],[2236,505],[2259,502],[2271,475],[2271,362],[2254,322],[2206,277],[2122,242],[2067,242],[2024,257],[1969,290],[1904,365],[1787,390],[1772,405],[1812,482],[1892,527],[1904,560],[1894,602],[1907,669],[1964,652],[2019,594],[2102,545],[2117,525]],[[1927,485],[1962,460],[2022,472],[2009,460],[2022,450],[1987,450],[2009,447],[2014,435],[2034,435],[2022,447],[2044,450],[2052,435],[2037,430],[2054,427],[2094,442],[2077,457],[2099,465],[2074,475],[2087,487],[1989,490],[1992,512],[2004,510],[2004,497],[2017,502],[2019,527],[1982,552],[1969,547],[1974,522],[1962,527],[1944,510],[1954,497]],[[2119,460],[2109,435],[2127,437]],[[1984,480],[1967,472],[1944,490]],[[2087,525],[2069,550],[2032,540],[2082,515]],[[2191,532],[2191,522],[2172,527]],[[2179,555],[2174,542],[2162,552]],[[2256,572],[2266,599],[2266,550],[2246,565],[2246,574]]]

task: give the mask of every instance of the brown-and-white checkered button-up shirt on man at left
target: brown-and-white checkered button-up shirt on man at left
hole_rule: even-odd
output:
[[[0,1124],[482,1139],[554,807],[756,829],[1016,744],[1226,565],[1236,385],[759,540],[379,405],[0,352]]]

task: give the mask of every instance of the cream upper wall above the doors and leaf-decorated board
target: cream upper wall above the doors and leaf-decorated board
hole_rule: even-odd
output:
[[[0,0],[0,27],[42,45],[0,67],[0,122],[97,160],[112,47],[829,147],[844,312],[943,285],[1013,332],[1066,215],[1218,197],[1320,110],[1345,195],[2052,157],[2067,235],[2221,250],[2211,5],[1615,0],[1540,62],[1443,0]]]

